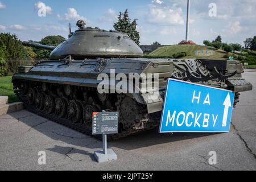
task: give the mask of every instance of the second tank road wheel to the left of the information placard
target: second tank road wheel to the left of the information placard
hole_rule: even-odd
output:
[[[77,123],[81,119],[81,106],[79,102],[70,101],[68,103],[68,119],[73,123]]]

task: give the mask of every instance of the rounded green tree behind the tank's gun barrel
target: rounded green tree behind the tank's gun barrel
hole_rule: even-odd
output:
[[[63,36],[60,35],[50,35],[43,38],[39,44],[47,45],[47,46],[58,46],[60,43],[62,43],[65,40]],[[30,40],[30,42],[32,42]],[[36,53],[39,59],[48,59],[51,51],[40,49],[40,48],[33,48],[33,51]]]

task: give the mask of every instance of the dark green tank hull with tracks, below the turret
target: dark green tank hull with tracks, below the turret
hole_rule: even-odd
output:
[[[114,72],[113,72],[114,71]],[[119,111],[119,133],[110,136],[119,139],[159,125],[167,78],[176,78],[236,92],[251,90],[249,82],[241,77],[238,61],[172,60],[172,59],[88,59],[42,61],[34,67],[20,69],[13,76],[14,90],[32,112],[52,121],[92,134],[93,111]],[[158,87],[141,89],[135,82],[117,85],[118,74],[158,75]],[[102,75],[108,76],[109,93],[98,93]],[[114,77],[111,77],[113,76]],[[148,84],[148,82],[147,82]],[[113,86],[113,87],[112,87]],[[137,88],[138,92],[123,93]],[[156,97],[150,97],[157,93]]]

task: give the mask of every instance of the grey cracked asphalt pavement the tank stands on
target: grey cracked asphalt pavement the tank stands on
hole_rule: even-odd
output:
[[[242,92],[232,126],[223,134],[159,134],[158,128],[108,142],[117,160],[97,163],[101,141],[26,110],[0,117],[0,170],[255,170],[256,70],[243,77],[254,85]],[[40,151],[46,164],[40,165]],[[216,165],[209,152],[216,151]],[[42,159],[42,158],[40,158]]]

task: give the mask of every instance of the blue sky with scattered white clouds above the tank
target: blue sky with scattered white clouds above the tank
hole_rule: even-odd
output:
[[[46,16],[39,16],[44,7]],[[68,38],[69,23],[112,30],[119,11],[128,9],[141,44],[177,44],[185,39],[187,0],[0,0],[0,32],[20,40],[39,41],[48,35]],[[38,15],[39,13],[39,15]],[[240,43],[256,35],[256,0],[191,0],[189,40],[203,44],[217,35],[222,42]]]

